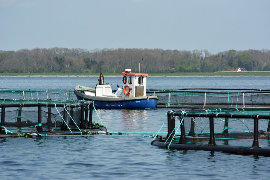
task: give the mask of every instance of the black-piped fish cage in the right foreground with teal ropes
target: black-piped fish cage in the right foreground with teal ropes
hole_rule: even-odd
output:
[[[158,133],[167,121],[167,136]],[[171,110],[152,145],[165,149],[270,156],[270,108]],[[252,142],[251,142],[252,141]]]

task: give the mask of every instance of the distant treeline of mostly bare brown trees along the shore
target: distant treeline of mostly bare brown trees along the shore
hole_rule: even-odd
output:
[[[0,73],[143,73],[270,71],[270,50],[211,54],[208,50],[35,48],[0,51]]]

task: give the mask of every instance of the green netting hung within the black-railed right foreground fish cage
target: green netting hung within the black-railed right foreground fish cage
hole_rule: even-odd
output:
[[[193,114],[240,114],[240,115],[270,115],[270,110],[184,110],[185,113]],[[180,124],[184,122],[185,135],[187,137],[187,143],[208,143],[210,135],[210,123],[209,118],[202,117],[181,117],[176,116],[175,133],[181,134]],[[227,123],[227,124],[226,124]],[[258,120],[259,141],[266,141],[268,143],[261,144],[261,146],[269,146],[269,119]],[[163,127],[167,129],[167,127]],[[161,128],[162,129],[162,128]],[[164,131],[164,129],[163,129]],[[244,140],[253,140],[254,134],[254,120],[243,118],[214,118],[214,134],[217,145],[230,145],[230,146],[251,146],[252,142],[246,142]],[[178,138],[176,138],[179,141]],[[227,142],[228,140],[237,140],[237,142]],[[225,143],[225,144],[224,144]]]

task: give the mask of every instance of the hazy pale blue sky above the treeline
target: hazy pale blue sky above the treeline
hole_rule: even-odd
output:
[[[0,50],[270,49],[269,0],[0,0]]]

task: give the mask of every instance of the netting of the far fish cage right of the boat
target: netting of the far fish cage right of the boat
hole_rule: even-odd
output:
[[[150,95],[150,94],[148,94]],[[184,106],[267,106],[270,92],[155,92],[158,105],[174,104]]]

